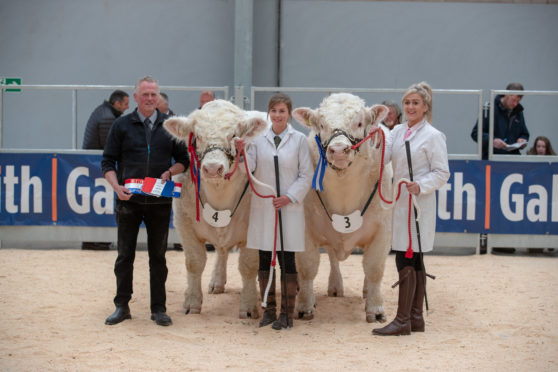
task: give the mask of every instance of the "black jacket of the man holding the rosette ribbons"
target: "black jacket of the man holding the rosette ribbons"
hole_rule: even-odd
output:
[[[120,185],[132,178],[159,178],[170,168],[173,158],[188,169],[190,161],[186,146],[178,143],[163,128],[167,118],[167,115],[157,110],[157,120],[152,131],[142,123],[137,109],[118,118],[110,129],[103,152],[103,175],[110,170],[115,171]],[[165,204],[170,203],[171,198],[134,194],[130,201]]]

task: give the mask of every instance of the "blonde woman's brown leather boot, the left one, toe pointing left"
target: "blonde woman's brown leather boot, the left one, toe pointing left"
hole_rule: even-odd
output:
[[[399,300],[395,319],[383,328],[372,330],[378,336],[401,336],[411,334],[411,307],[416,288],[416,274],[412,266],[405,266],[399,272]]]

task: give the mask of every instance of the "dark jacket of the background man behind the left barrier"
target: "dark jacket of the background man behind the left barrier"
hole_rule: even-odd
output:
[[[112,123],[122,115],[108,101],[97,106],[91,113],[85,135],[83,136],[83,148],[89,150],[102,150],[107,142],[107,135]]]

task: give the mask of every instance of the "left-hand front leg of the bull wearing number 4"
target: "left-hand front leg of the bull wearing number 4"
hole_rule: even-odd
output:
[[[186,243],[186,244],[185,244]],[[201,277],[207,254],[203,242],[182,240],[186,260],[186,291],[184,292],[184,311],[186,314],[199,314],[203,302]]]

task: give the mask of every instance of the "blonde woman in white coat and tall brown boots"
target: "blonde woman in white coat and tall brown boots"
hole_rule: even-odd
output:
[[[422,307],[426,273],[419,253],[415,214],[409,211],[409,193],[420,208],[419,231],[422,252],[432,251],[436,232],[436,194],[449,178],[448,152],[445,135],[432,126],[432,89],[425,83],[411,85],[403,95],[407,122],[394,127],[391,141],[386,140],[385,162],[391,160],[393,182],[409,179],[405,141],[409,141],[413,167],[413,182],[401,188],[393,211],[392,249],[399,273],[399,299],[395,319],[383,328],[372,331],[380,336],[409,335],[424,332]],[[409,248],[411,213],[412,245]],[[410,250],[412,249],[412,251]]]

